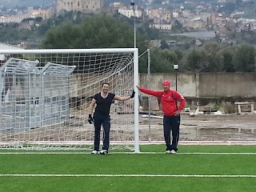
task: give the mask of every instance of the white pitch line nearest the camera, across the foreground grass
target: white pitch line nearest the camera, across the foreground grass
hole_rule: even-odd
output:
[[[0,174],[0,177],[256,178],[248,174]]]

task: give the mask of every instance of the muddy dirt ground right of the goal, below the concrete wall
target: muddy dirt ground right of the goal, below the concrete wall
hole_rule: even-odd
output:
[[[163,140],[162,119],[140,115],[139,122],[142,140]],[[182,114],[180,141],[256,143],[256,114]]]

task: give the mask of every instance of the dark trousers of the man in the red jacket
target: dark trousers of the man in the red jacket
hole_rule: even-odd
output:
[[[179,125],[181,117],[178,116],[164,116],[163,117],[163,134],[166,141],[166,150],[175,150],[178,148]],[[172,142],[170,143],[170,132],[172,133]]]

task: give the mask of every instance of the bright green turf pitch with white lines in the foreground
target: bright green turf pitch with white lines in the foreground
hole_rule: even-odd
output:
[[[162,145],[141,146],[141,154],[109,155],[0,150],[0,191],[256,189],[256,146],[179,146],[177,154],[164,150]]]

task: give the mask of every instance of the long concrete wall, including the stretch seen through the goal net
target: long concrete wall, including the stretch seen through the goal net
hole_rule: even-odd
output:
[[[150,83],[147,82],[147,74],[140,74],[139,86],[152,90],[162,90],[162,81],[167,79],[171,83],[171,89],[175,90],[175,73],[168,74],[150,74]],[[94,79],[92,82],[91,79]],[[178,92],[188,98],[207,98],[207,97],[242,97],[256,98],[256,73],[177,73]],[[90,97],[95,91],[99,92],[102,89],[102,82],[110,82],[110,87],[115,87],[116,82],[111,79],[96,79],[93,74],[73,74],[70,77],[70,97]],[[34,83],[36,83],[34,79]],[[95,82],[95,83],[94,83]],[[44,83],[46,88],[53,87],[51,93],[46,89],[46,95],[57,94],[66,91],[59,86],[56,79],[47,78]],[[148,85],[149,84],[149,85]],[[16,90],[19,85],[13,85],[12,90]],[[36,86],[35,86],[36,87]],[[111,88],[112,89],[112,88]],[[115,90],[111,90],[115,91]],[[146,96],[146,94],[142,94]]]

